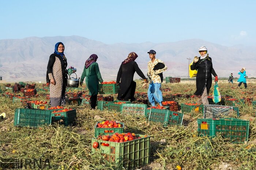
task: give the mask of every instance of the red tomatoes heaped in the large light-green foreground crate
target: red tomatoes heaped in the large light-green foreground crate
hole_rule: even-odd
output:
[[[147,137],[147,135],[144,135],[144,138]],[[136,136],[135,133],[114,133],[113,135],[103,135],[99,136],[98,139],[102,141],[109,141],[109,142],[117,142],[117,143],[122,143],[122,142],[127,142],[127,141],[132,141],[135,139],[140,139],[142,137]],[[102,146],[109,146],[109,143],[101,143]],[[93,148],[98,148],[99,143],[94,142],[93,143]]]

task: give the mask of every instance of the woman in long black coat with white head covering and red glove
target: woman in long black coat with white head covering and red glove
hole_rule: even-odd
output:
[[[191,70],[197,70],[196,74],[196,92],[194,95],[200,95],[201,98],[198,103],[209,104],[208,94],[212,84],[212,77],[215,77],[214,82],[218,81],[218,76],[212,67],[212,59],[207,54],[206,47],[198,49],[200,57],[195,56],[193,64],[190,66]]]

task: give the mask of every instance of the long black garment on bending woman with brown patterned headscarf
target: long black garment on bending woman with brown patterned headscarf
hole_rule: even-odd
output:
[[[143,72],[140,70],[138,64],[135,61],[131,61],[126,64],[121,64],[116,78],[116,83],[120,83],[120,90],[118,92],[117,98],[127,98],[131,94],[128,91],[131,91],[132,88],[132,81],[134,73],[136,73],[143,79],[146,79]],[[121,79],[121,82],[120,82]],[[131,96],[134,97],[134,96]]]

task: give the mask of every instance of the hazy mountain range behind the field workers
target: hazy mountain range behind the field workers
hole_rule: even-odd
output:
[[[246,67],[249,77],[256,74],[256,49],[247,46],[226,47],[200,39],[190,39],[173,43],[140,44],[104,44],[80,36],[55,36],[55,37],[27,37],[24,39],[0,40],[0,76],[6,81],[45,81],[46,67],[49,56],[54,52],[57,42],[65,45],[64,54],[68,60],[68,67],[77,68],[77,76],[83,72],[84,63],[91,54],[98,55],[98,64],[103,80],[116,80],[116,75],[121,62],[130,52],[136,52],[138,63],[142,72],[147,73],[147,62],[150,60],[147,52],[151,49],[157,52],[156,58],[161,59],[168,67],[163,76],[187,77],[188,60],[199,56],[197,49],[201,46],[208,48],[212,58],[213,67],[219,77],[227,77]],[[75,77],[72,74],[71,77]],[[134,78],[139,78],[135,74]]]

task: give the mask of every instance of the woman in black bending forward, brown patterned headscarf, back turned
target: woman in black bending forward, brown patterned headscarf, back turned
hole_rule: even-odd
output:
[[[131,99],[131,101],[135,101],[134,94],[136,82],[133,81],[135,71],[144,79],[144,82],[147,82],[147,79],[140,70],[138,64],[134,61],[137,57],[138,55],[135,52],[131,52],[119,68],[116,78],[116,83],[120,83],[120,90],[117,95],[118,100],[128,101]]]

